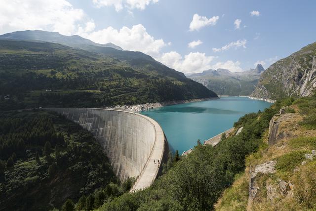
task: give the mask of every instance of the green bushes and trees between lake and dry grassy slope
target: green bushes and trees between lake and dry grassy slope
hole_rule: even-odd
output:
[[[235,126],[243,130],[237,136],[226,137],[216,147],[197,144],[186,157],[169,159],[171,168],[152,186],[109,199],[99,210],[213,210],[222,192],[244,170],[245,157],[262,143],[261,137],[281,105],[278,102],[264,112],[240,118]]]

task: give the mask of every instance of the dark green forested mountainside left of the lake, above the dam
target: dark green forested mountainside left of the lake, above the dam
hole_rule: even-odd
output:
[[[53,42],[0,40],[0,110],[217,97],[144,53],[86,46],[100,53]]]

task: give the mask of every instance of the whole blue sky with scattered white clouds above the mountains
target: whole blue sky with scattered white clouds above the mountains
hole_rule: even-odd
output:
[[[268,68],[316,42],[314,0],[0,0],[0,34],[45,30],[142,51],[185,74]]]

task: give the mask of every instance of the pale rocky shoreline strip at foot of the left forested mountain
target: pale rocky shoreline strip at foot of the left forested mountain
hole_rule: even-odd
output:
[[[158,103],[144,103],[144,104],[137,104],[137,105],[117,105],[117,106],[109,106],[106,107],[107,109],[116,109],[120,111],[130,111],[135,113],[140,113],[142,111],[159,108],[168,105],[177,105],[183,103],[193,103],[193,102],[201,102],[201,101],[208,101],[208,100],[217,100],[219,97],[208,97],[208,98],[199,98],[199,99],[191,99],[191,100],[171,100],[165,102],[158,102]]]

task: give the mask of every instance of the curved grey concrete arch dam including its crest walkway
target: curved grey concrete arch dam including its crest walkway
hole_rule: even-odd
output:
[[[136,178],[131,191],[150,186],[167,160],[169,148],[162,128],[147,116],[111,109],[48,109],[89,130],[103,147],[120,181]]]

